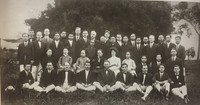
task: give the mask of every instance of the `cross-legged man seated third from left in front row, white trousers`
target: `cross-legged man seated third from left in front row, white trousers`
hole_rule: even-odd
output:
[[[55,91],[58,92],[74,92],[77,90],[75,86],[75,74],[70,68],[70,64],[65,62],[63,69],[58,72]]]

